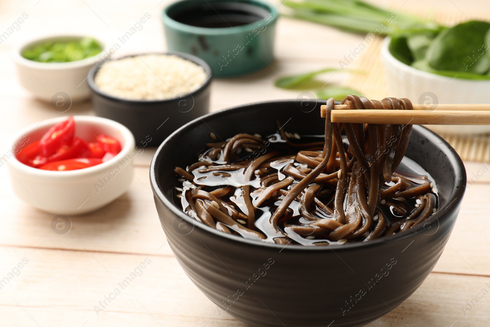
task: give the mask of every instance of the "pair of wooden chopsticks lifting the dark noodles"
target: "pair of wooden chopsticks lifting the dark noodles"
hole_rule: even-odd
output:
[[[335,105],[333,123],[400,125],[490,125],[489,104],[439,104],[436,109],[414,104],[415,110],[348,110]],[[430,109],[427,109],[430,108]],[[326,105],[321,106],[325,118]]]

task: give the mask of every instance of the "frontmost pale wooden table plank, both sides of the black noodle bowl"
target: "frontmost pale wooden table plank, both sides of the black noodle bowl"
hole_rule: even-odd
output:
[[[0,247],[0,272],[7,275],[23,258],[28,263],[1,289],[0,314],[5,326],[232,326],[244,327],[220,313],[192,284],[172,256],[97,253]],[[137,271],[123,289],[118,283]],[[83,273],[81,273],[83,272]],[[3,277],[2,275],[2,277]],[[487,327],[490,302],[486,297],[471,311],[466,301],[481,293],[489,277],[432,273],[398,308],[369,326]],[[121,293],[105,308],[98,303],[118,288]],[[19,305],[25,310],[19,308]],[[101,308],[96,312],[94,306]],[[32,317],[27,316],[26,312]],[[149,313],[148,313],[149,312]],[[97,314],[98,313],[98,314]],[[151,314],[151,315],[150,315]],[[153,318],[153,317],[154,318]]]

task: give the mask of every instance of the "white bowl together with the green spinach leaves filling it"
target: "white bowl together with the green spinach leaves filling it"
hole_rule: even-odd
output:
[[[381,51],[392,97],[415,103],[490,103],[490,24],[466,22],[439,33],[392,35]],[[437,132],[490,132],[490,126],[430,126]]]

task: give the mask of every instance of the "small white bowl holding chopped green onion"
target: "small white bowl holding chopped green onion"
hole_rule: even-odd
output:
[[[92,37],[100,45],[102,51],[95,56],[70,62],[38,62],[26,59],[22,52],[36,45],[48,41],[70,41]],[[12,60],[17,68],[17,75],[21,85],[36,98],[51,101],[54,94],[64,92],[72,101],[81,101],[90,97],[87,76],[90,69],[105,56],[105,43],[100,39],[84,34],[48,34],[31,37],[17,43],[12,49]],[[108,57],[106,56],[105,59]]]

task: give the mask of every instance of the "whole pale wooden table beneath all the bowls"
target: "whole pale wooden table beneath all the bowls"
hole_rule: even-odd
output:
[[[396,10],[462,14],[463,19],[490,9],[485,0],[379,2]],[[18,129],[62,115],[49,103],[33,99],[18,84],[10,57],[16,40],[38,31],[83,30],[111,42],[148,12],[151,18],[144,28],[118,54],[165,50],[159,12],[167,3],[0,1],[0,33],[22,13],[29,15],[21,28],[0,44],[0,156]],[[443,15],[440,17],[443,20]],[[298,91],[273,86],[278,75],[337,67],[343,55],[361,39],[329,27],[281,18],[274,69],[214,80],[211,108],[215,111],[252,101],[296,98]],[[342,82],[344,78],[336,75],[332,80]],[[74,104],[66,114],[94,112],[86,101]],[[126,194],[97,212],[70,217],[72,229],[65,235],[51,229],[52,214],[15,197],[6,165],[0,167],[0,280],[8,279],[0,289],[0,326],[245,326],[220,313],[175,260],[150,191],[148,167],[153,153],[154,149],[146,149],[136,157],[135,177]],[[482,171],[483,166],[466,162],[468,175]],[[466,315],[462,308],[482,289],[490,291],[489,194],[490,174],[486,173],[468,187],[455,229],[434,271],[408,300],[369,326],[490,326],[490,295],[474,301]],[[475,228],[476,224],[480,227]],[[118,282],[145,260],[150,263],[142,275],[120,294],[111,296],[111,302],[106,300],[115,288],[121,289]],[[18,264],[22,269],[14,268]],[[102,310],[95,310],[95,306]]]

